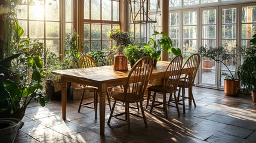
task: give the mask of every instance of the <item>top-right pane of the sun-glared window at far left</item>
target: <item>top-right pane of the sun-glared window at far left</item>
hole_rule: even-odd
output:
[[[59,20],[58,7],[60,7],[58,0],[46,0],[45,1],[45,19],[46,20]]]

